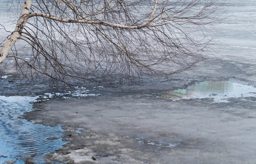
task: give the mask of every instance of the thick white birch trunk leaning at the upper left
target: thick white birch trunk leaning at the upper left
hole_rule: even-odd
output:
[[[8,56],[9,51],[11,50],[12,46],[15,44],[15,42],[18,40],[18,38],[21,35],[21,31],[23,30],[23,27],[26,24],[26,21],[28,20],[27,15],[29,14],[29,9],[32,4],[32,0],[25,0],[23,8],[20,12],[20,17],[17,20],[17,25],[15,28],[15,31],[12,32],[12,35],[10,38],[3,44],[1,50],[0,50],[0,64],[6,59]]]

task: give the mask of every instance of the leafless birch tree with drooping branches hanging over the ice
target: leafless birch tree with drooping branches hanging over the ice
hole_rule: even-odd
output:
[[[24,75],[28,66],[32,78],[62,82],[176,74],[205,59],[221,3],[25,0],[15,30],[2,43],[0,63],[13,57]],[[17,41],[30,51],[15,49]]]

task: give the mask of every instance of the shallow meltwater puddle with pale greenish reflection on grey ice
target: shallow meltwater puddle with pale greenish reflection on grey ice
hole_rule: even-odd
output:
[[[205,81],[190,85],[186,89],[177,89],[162,93],[161,97],[172,100],[213,98],[215,102],[228,102],[227,99],[231,97],[248,96],[256,96],[256,88],[231,81]]]

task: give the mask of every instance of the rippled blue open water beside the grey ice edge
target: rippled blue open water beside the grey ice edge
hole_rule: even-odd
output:
[[[19,156],[42,156],[65,144],[61,140],[60,125],[49,127],[18,118],[33,110],[29,104],[33,101],[35,97],[0,96],[0,163]],[[49,139],[53,137],[55,139]]]

